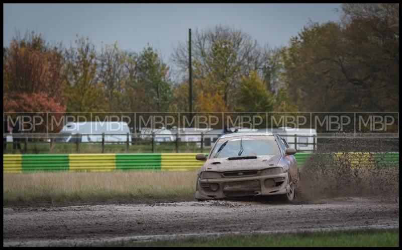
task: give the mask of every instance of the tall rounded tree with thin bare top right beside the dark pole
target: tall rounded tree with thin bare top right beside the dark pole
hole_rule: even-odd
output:
[[[223,96],[225,109],[233,106],[241,75],[259,69],[262,63],[256,40],[239,29],[222,25],[196,30],[191,48],[195,107],[200,107],[198,96],[216,94]],[[188,70],[188,42],[180,43],[174,50],[173,61],[182,72]]]

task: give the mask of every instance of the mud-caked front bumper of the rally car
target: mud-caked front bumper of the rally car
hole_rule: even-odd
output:
[[[198,179],[195,198],[222,199],[237,196],[280,195],[290,191],[288,172],[250,177]]]

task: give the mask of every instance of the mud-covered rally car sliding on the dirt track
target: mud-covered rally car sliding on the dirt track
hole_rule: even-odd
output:
[[[197,173],[195,199],[281,195],[293,201],[299,180],[294,148],[276,133],[222,135]]]

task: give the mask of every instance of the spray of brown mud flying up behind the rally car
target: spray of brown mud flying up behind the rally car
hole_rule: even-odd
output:
[[[351,196],[398,199],[399,160],[382,158],[398,151],[398,140],[324,140],[300,171],[296,201]]]

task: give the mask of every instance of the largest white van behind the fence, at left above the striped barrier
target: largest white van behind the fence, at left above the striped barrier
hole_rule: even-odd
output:
[[[76,142],[76,134],[81,134],[80,142],[102,142],[105,133],[105,144],[127,142],[130,128],[127,122],[68,122],[55,138],[56,142]],[[128,137],[131,145],[131,134]]]

